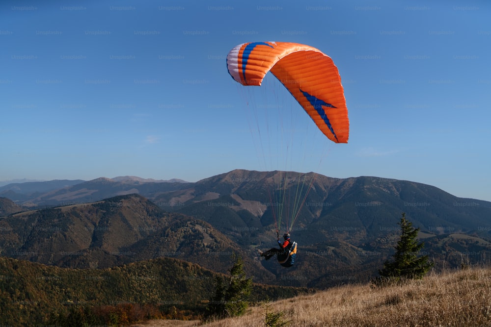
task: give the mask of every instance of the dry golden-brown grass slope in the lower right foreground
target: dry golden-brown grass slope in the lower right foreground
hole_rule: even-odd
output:
[[[290,327],[491,326],[491,269],[432,274],[403,285],[344,285],[313,295],[272,302]],[[265,326],[265,307],[239,318],[200,326]]]

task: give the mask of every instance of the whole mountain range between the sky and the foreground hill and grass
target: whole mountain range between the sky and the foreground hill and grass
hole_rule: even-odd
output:
[[[312,182],[292,229],[296,265],[260,261],[257,249],[276,244],[271,193],[281,180],[294,191],[302,178]],[[394,252],[402,212],[421,228],[436,269],[491,254],[491,202],[411,181],[234,170],[195,183],[98,178],[32,191],[0,201],[2,256],[71,268],[164,256],[226,273],[237,252],[257,282],[322,288],[376,275]]]

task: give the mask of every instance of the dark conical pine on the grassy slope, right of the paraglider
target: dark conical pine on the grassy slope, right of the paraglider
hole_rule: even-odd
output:
[[[385,261],[382,270],[375,281],[380,285],[383,282],[399,282],[404,279],[421,279],[434,266],[428,255],[418,257],[418,253],[424,247],[424,243],[418,243],[416,237],[420,228],[412,227],[412,223],[406,219],[406,213],[402,213],[401,238],[395,247],[396,252],[392,261]]]

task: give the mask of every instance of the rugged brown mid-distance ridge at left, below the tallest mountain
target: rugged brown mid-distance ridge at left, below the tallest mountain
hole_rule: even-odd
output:
[[[271,279],[257,260],[213,226],[166,213],[138,195],[40,209],[0,218],[1,255],[71,268],[107,268],[173,257],[226,273],[240,253],[256,281]]]

